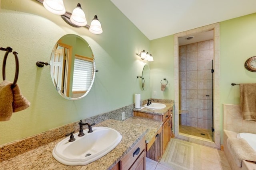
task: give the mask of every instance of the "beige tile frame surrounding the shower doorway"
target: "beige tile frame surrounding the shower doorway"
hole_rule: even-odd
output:
[[[179,37],[187,37],[190,35],[194,35],[197,33],[202,33],[206,31],[214,31],[214,81],[213,81],[213,111],[214,111],[214,141],[205,141],[202,139],[198,139],[194,136],[185,136],[179,133]],[[175,108],[175,115],[174,115],[174,134],[176,138],[183,139],[186,141],[190,141],[193,143],[200,143],[201,145],[206,145],[210,147],[214,147],[220,149],[220,106],[217,105],[220,100],[219,94],[219,80],[220,80],[220,23],[214,23],[211,25],[207,25],[204,27],[199,27],[196,29],[191,29],[189,31],[184,31],[181,33],[177,33],[174,35],[174,108]]]

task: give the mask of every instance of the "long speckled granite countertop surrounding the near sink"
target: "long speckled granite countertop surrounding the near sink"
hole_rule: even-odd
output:
[[[136,143],[146,136],[146,142],[150,141],[154,134],[162,126],[161,121],[141,117],[130,117],[125,121],[108,119],[95,126],[104,126],[116,129],[122,135],[121,142],[115,149],[102,158],[85,166],[66,166],[56,161],[52,156],[54,146],[62,139],[58,139],[34,150],[20,154],[14,158],[0,162],[1,170],[110,170]]]

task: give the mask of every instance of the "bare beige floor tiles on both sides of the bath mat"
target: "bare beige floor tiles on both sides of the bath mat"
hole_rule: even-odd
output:
[[[189,143],[189,142],[188,142]],[[223,151],[199,145],[201,148],[202,170],[231,170]],[[174,170],[146,158],[146,170]]]

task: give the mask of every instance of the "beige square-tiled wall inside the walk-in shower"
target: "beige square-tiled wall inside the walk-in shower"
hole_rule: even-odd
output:
[[[212,127],[213,40],[179,47],[180,124]]]

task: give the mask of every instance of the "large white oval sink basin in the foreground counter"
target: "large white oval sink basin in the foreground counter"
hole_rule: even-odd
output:
[[[108,127],[92,127],[93,132],[84,130],[84,136],[74,134],[75,141],[70,137],[60,141],[52,150],[52,156],[60,163],[70,166],[86,165],[114,149],[121,141],[122,135]]]

